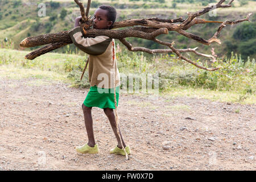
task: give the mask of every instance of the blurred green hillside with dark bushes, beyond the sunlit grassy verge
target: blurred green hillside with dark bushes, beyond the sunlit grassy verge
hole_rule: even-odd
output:
[[[46,16],[38,16],[38,4],[46,4]],[[84,3],[86,1],[83,1]],[[191,3],[189,3],[191,2]],[[90,14],[92,14],[96,7],[101,4],[109,4],[117,9],[117,21],[122,19],[131,18],[150,18],[158,17],[164,19],[173,19],[179,16],[186,17],[187,11],[197,11],[208,5],[209,1],[92,1]],[[212,1],[211,1],[212,2]],[[72,0],[59,0],[59,1],[26,1],[14,0],[6,1],[0,0],[0,41],[1,47],[9,47],[15,49],[23,49],[19,47],[19,42],[27,36],[35,36],[46,34],[49,32],[58,32],[61,30],[70,30],[73,27],[73,20],[76,16],[80,15],[79,7]],[[245,18],[247,13],[255,12],[256,2],[248,1],[234,1],[234,7],[229,9],[222,9],[217,11],[217,17],[210,17],[208,14],[202,18],[213,20],[234,20]],[[222,46],[213,44],[212,46],[203,46],[193,40],[189,40],[176,32],[169,32],[169,35],[161,35],[159,39],[168,39],[176,42],[176,48],[199,47],[201,52],[210,53],[214,48],[215,52],[220,56],[230,55],[232,51],[241,53],[243,59],[247,56],[255,57],[255,20],[256,15],[251,17],[252,23],[242,23],[238,26],[227,26],[221,32]],[[241,27],[242,26],[242,27]],[[245,27],[243,27],[245,26]],[[241,28],[240,28],[241,27]],[[203,38],[210,38],[217,30],[218,24],[200,24],[196,25],[189,32],[201,35]],[[238,29],[241,29],[242,32]],[[202,31],[203,30],[203,31]],[[235,33],[243,33],[243,30],[249,31],[251,34],[250,39],[242,39],[241,36],[234,36]],[[251,31],[253,30],[253,32]],[[7,38],[7,39],[6,39]],[[6,42],[7,40],[7,42]],[[134,46],[144,46],[148,48],[163,48],[156,43],[148,40],[128,39],[133,42]],[[9,43],[13,42],[13,44]],[[238,45],[239,44],[239,45]],[[4,46],[5,45],[5,46]],[[30,48],[35,49],[35,48]],[[75,51],[75,46],[66,46],[57,49],[55,52],[65,53],[67,51]],[[245,51],[245,49],[247,51]],[[29,49],[27,49],[29,50]]]

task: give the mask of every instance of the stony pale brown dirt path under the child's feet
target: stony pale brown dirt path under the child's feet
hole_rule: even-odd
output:
[[[0,170],[255,170],[255,105],[197,98],[150,100],[121,94],[122,134],[130,160],[110,155],[114,134],[92,110],[100,153],[86,142],[81,104],[88,89],[33,78],[0,80]]]

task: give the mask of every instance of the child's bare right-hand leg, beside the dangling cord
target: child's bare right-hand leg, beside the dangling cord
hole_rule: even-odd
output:
[[[117,134],[117,127],[115,125],[115,114],[114,114],[113,109],[104,108],[104,113],[109,118],[110,125],[111,125],[111,127],[114,131],[115,137],[117,138],[117,143],[118,143],[117,147],[122,148],[122,143],[123,143],[123,147],[126,147],[126,144],[125,144],[125,141],[123,140],[119,125],[118,125],[118,130],[119,130],[119,134],[120,134],[121,139],[119,138],[119,136]],[[122,140],[122,143],[121,143],[121,140]]]

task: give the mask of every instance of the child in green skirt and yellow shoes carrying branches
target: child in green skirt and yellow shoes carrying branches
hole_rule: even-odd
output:
[[[110,29],[115,22],[116,15],[117,13],[114,7],[109,5],[100,6],[94,14],[93,28]],[[115,109],[113,88],[116,87],[116,104],[118,105],[120,85],[120,76],[116,61],[113,65],[113,56],[115,53],[113,52],[114,39],[110,39],[108,36],[83,38],[79,25],[80,19],[81,16],[76,18],[75,28],[73,28],[68,34],[71,36],[72,42],[77,47],[89,54],[88,72],[90,90],[84,103],[82,104],[85,127],[88,135],[88,143],[84,144],[83,146],[76,147],[76,151],[83,154],[98,153],[98,145],[95,143],[93,135],[92,107],[100,107],[104,109],[104,113],[110,121],[110,125],[112,126],[118,142],[117,146],[110,150],[110,153],[120,155],[126,155],[125,153],[127,153],[127,155],[129,155],[131,154],[130,147],[126,146],[119,126],[118,130],[120,137],[117,133],[115,115],[113,111],[113,109]],[[114,72],[114,74],[112,72]],[[104,81],[98,79],[99,77],[102,78],[102,75],[104,76]],[[115,75],[115,82],[112,80],[112,75]],[[125,148],[125,151],[122,150],[122,145]]]

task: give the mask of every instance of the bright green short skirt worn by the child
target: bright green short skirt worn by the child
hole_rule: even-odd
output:
[[[116,95],[117,106],[118,106],[119,86],[115,88],[115,95]],[[84,100],[84,105],[87,107],[100,107],[101,109],[104,109],[104,108],[115,109],[114,88],[104,89],[104,88],[99,88],[96,85],[91,86]]]

